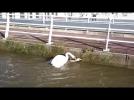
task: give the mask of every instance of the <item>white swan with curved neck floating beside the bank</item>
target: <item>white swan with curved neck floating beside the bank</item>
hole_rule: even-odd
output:
[[[56,68],[62,67],[65,63],[67,63],[69,56],[71,56],[73,59],[76,59],[76,57],[73,54],[67,52],[65,56],[64,55],[55,56],[51,61],[52,66]]]

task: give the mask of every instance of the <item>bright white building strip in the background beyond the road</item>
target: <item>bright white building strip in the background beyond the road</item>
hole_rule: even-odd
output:
[[[134,13],[42,13],[42,12],[12,12],[10,13],[10,18],[12,19],[42,19],[43,14],[45,16],[49,16],[50,14],[53,14],[57,17],[96,17],[96,18],[108,18],[109,16],[113,16],[113,18],[125,18],[125,19],[134,19]],[[6,13],[2,12],[0,13],[0,18],[6,18]]]

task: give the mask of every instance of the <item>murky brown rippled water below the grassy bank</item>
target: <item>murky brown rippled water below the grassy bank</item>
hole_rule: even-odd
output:
[[[0,51],[0,87],[134,87],[134,70],[82,62],[56,69],[41,57]]]

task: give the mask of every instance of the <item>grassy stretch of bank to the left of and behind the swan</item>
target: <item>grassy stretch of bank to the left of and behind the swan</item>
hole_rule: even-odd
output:
[[[20,54],[43,56],[46,59],[50,59],[57,54],[64,53],[63,47],[20,43],[11,40],[0,41],[0,49]]]

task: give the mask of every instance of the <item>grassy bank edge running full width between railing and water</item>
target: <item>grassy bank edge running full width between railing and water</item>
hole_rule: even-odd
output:
[[[24,43],[13,40],[0,40],[0,50],[25,55],[44,57],[50,60],[57,54],[72,52],[82,59],[83,63],[109,65],[134,69],[134,55],[102,52],[93,48],[69,48],[61,44],[46,45],[41,43]]]

